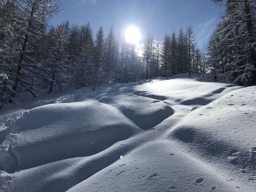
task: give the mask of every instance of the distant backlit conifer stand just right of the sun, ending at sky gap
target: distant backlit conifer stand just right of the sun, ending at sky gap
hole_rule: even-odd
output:
[[[143,66],[146,79],[157,76],[173,76],[180,73],[204,73],[205,57],[196,45],[193,29],[180,29],[166,34],[163,42],[148,36],[143,48]]]

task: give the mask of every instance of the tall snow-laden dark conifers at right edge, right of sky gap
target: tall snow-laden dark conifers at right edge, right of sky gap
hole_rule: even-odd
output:
[[[226,13],[208,47],[210,77],[215,81],[225,78],[240,85],[256,85],[256,1],[226,3]]]

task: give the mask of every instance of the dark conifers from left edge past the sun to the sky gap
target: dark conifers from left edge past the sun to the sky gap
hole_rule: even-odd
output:
[[[135,45],[118,37],[111,27],[95,36],[90,23],[63,22],[47,27],[59,11],[53,0],[5,0],[0,5],[0,108],[15,96],[61,91],[106,83],[128,83],[178,73],[203,73],[204,57],[192,28],[164,42],[148,36],[140,56]]]

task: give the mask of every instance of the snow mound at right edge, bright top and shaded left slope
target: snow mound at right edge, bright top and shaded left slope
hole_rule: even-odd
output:
[[[201,158],[230,167],[232,174],[256,181],[256,87],[239,89],[187,116],[170,138],[193,147]],[[246,175],[245,175],[246,173]]]

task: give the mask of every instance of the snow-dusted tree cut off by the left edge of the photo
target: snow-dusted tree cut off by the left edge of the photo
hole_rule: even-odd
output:
[[[13,100],[13,76],[18,47],[14,21],[17,13],[13,1],[0,1],[0,109]]]

